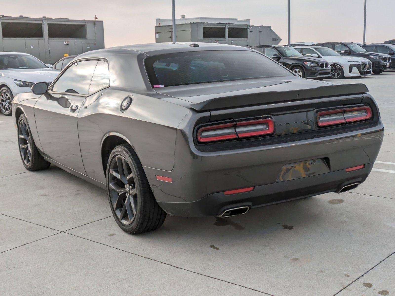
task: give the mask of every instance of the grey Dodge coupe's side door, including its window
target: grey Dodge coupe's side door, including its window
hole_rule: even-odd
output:
[[[49,99],[34,105],[38,137],[45,155],[82,174],[77,114],[88,95],[98,60],[82,60],[67,67],[51,85]]]

